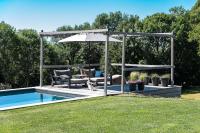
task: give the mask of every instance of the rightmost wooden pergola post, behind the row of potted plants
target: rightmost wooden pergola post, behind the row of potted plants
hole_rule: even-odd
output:
[[[174,34],[171,36],[171,86],[174,86]]]

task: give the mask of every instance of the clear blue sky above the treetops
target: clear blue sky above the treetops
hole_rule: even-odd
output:
[[[92,23],[100,13],[121,11],[141,19],[171,7],[191,9],[196,0],[0,0],[0,21],[16,29],[55,31],[63,25]]]

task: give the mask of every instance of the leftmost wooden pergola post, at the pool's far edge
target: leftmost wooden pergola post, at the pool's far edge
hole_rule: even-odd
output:
[[[43,38],[40,36],[40,87],[43,86]]]

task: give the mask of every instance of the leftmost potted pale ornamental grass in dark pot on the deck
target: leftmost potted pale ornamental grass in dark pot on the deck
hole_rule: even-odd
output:
[[[130,80],[128,81],[129,90],[130,91],[135,91],[136,90],[136,84],[137,84],[138,78],[139,78],[139,73],[138,72],[131,72]]]

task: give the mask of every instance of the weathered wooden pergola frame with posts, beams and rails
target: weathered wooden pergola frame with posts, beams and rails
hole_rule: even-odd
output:
[[[95,30],[79,30],[79,31],[62,31],[62,32],[40,32],[40,87],[43,86],[43,69],[58,68],[66,65],[45,65],[43,64],[43,37],[65,37],[79,33],[102,33],[107,36],[105,41],[105,75],[104,75],[104,95],[107,95],[107,77],[108,77],[108,45],[109,36],[123,37],[122,42],[122,62],[113,63],[114,66],[121,66],[121,93],[124,93],[124,75],[125,71],[132,70],[153,70],[153,69],[171,69],[171,86],[174,85],[174,34],[171,33],[127,33],[127,32],[110,32],[108,29],[95,29]],[[171,64],[170,65],[139,65],[139,64],[125,64],[125,46],[127,37],[168,37],[171,38]],[[127,68],[129,67],[129,68]],[[130,68],[132,67],[132,68]]]

